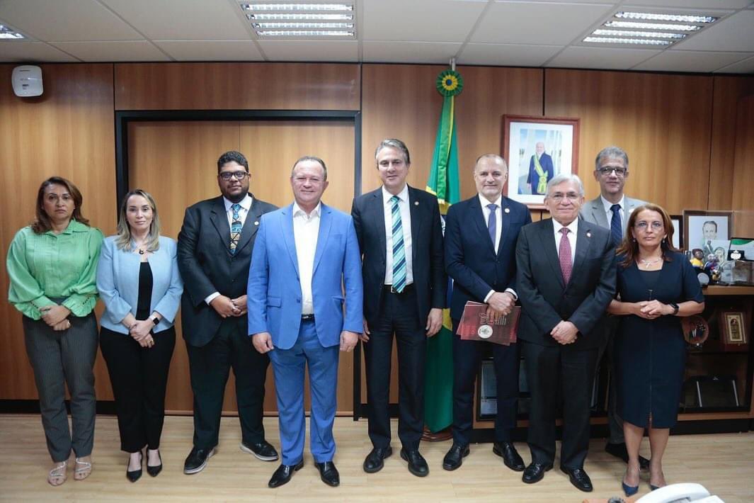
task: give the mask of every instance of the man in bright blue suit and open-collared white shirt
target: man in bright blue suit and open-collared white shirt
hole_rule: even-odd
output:
[[[363,330],[361,256],[351,216],[320,202],[328,185],[325,163],[300,158],[290,183],[296,201],[261,220],[247,289],[248,332],[254,348],[270,357],[277,391],[283,462],[268,485],[282,486],[304,465],[308,364],[311,455],[323,482],[338,486],[338,349],[353,350]]]

